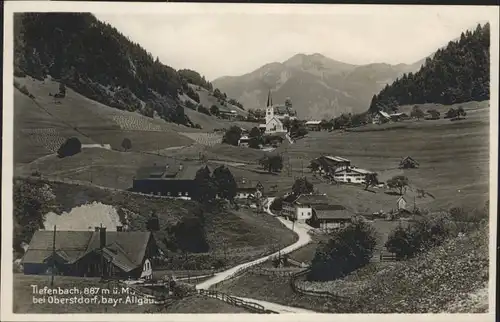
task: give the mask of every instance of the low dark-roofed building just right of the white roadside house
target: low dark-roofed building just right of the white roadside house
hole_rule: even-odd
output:
[[[314,228],[332,230],[343,228],[351,223],[354,215],[341,205],[318,205],[313,208],[312,217],[307,223]]]

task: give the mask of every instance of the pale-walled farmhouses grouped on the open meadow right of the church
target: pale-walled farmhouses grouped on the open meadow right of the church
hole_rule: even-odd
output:
[[[311,160],[309,165],[313,173],[329,177],[341,183],[365,183],[367,174],[375,173],[351,165],[351,161],[338,156],[324,155]]]

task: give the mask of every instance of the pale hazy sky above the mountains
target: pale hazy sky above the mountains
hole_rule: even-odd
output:
[[[194,69],[213,80],[242,75],[297,53],[321,53],[352,64],[413,63],[477,22],[488,21],[495,10],[451,6],[265,8],[95,15],[162,63]]]

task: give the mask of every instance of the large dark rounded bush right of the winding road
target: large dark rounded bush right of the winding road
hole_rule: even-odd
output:
[[[310,281],[334,280],[368,264],[376,245],[375,230],[363,220],[335,233],[316,249],[307,275]]]

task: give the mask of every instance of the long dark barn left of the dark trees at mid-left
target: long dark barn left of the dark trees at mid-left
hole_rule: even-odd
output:
[[[134,192],[190,200],[200,166],[167,164],[139,169],[131,188]]]

